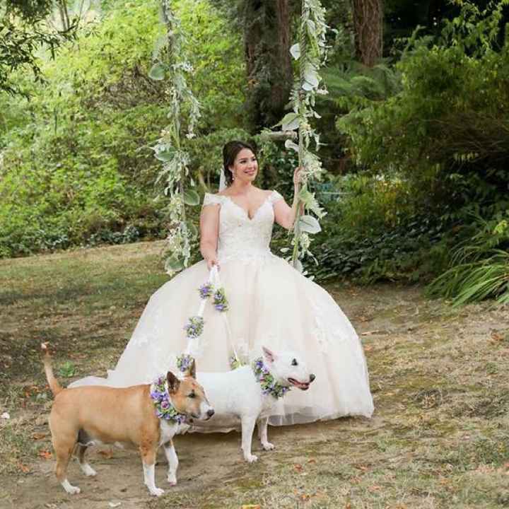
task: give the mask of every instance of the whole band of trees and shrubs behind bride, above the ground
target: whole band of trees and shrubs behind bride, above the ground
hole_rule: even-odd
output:
[[[151,147],[168,96],[148,77],[159,3],[2,4],[0,257],[165,238],[171,211]],[[327,216],[305,261],[317,279],[433,281],[432,294],[458,302],[508,301],[506,4],[322,1],[326,172],[312,190]],[[296,156],[259,133],[286,113],[300,2],[171,7],[201,103],[184,142],[196,189],[216,191],[224,141],[250,139],[258,185],[290,199]],[[274,249],[285,245],[276,232]]]

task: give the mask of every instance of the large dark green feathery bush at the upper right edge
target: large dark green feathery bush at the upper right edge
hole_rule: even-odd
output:
[[[496,48],[505,3],[479,13],[465,2],[438,42],[417,40],[404,54],[400,93],[339,119],[358,164],[403,172],[435,204],[459,209],[497,198],[509,182],[509,46]],[[459,189],[472,175],[481,189]]]

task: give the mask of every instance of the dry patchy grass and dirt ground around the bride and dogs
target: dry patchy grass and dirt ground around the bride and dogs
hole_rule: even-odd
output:
[[[57,484],[50,395],[38,355],[52,342],[66,383],[115,364],[148,296],[165,281],[160,244],[141,243],[0,262],[0,508],[502,508],[509,507],[509,310],[452,310],[421,288],[330,285],[361,334],[373,419],[271,428],[273,452],[240,455],[240,436],[178,437],[179,484],[142,484],[136,452],[90,454],[98,471]],[[119,504],[119,505],[117,505]]]

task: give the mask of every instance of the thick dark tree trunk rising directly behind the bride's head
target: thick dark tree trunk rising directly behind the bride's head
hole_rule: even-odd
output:
[[[283,117],[293,82],[289,0],[246,0],[244,11],[248,107],[252,128]]]

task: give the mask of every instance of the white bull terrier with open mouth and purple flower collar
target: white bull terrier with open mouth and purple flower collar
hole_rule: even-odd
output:
[[[198,373],[197,380],[204,387],[215,414],[207,423],[195,422],[194,426],[237,426],[240,421],[242,451],[245,460],[251,463],[258,459],[251,454],[254,425],[258,425],[264,450],[274,449],[267,439],[267,424],[277,398],[290,387],[308,390],[315,375],[296,353],[274,353],[264,347],[262,358],[252,365],[224,373]]]

